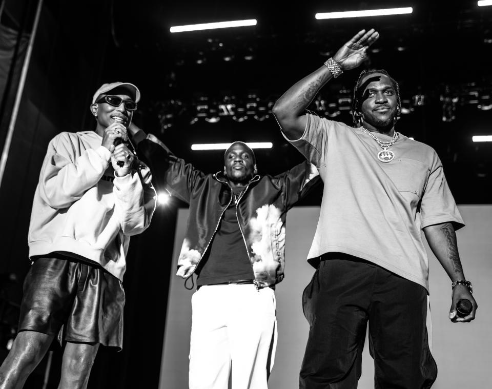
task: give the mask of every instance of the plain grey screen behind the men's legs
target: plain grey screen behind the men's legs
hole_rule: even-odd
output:
[[[492,206],[460,206],[466,227],[457,232],[465,275],[473,282],[479,304],[477,319],[471,323],[451,323],[447,318],[451,285],[437,259],[430,259],[430,307],[432,312],[432,353],[438,365],[435,389],[490,387],[492,366]],[[298,387],[298,373],[309,326],[301,308],[301,294],[314,269],[305,261],[318,220],[318,207],[294,208],[287,217],[285,279],[277,286],[278,346],[270,389]],[[181,248],[188,210],[178,213],[174,263]],[[175,267],[173,266],[173,269]],[[191,295],[181,278],[171,275],[165,341],[159,389],[188,387]],[[429,323],[428,323],[429,324]],[[374,367],[367,339],[362,361],[360,389],[374,387]]]

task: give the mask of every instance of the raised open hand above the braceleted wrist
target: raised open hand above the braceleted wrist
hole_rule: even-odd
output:
[[[367,57],[367,49],[379,38],[379,32],[374,28],[365,32],[360,30],[333,56],[342,70],[350,70],[358,67]]]

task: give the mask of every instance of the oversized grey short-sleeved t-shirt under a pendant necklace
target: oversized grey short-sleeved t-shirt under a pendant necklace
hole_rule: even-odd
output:
[[[324,189],[308,260],[341,252],[371,261],[428,291],[428,258],[422,228],[453,222],[464,226],[437,153],[399,134],[382,150],[362,128],[306,115],[300,139],[289,140],[318,168]],[[381,141],[391,138],[374,133]]]

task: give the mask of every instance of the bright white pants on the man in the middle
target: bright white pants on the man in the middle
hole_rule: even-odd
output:
[[[190,389],[228,389],[229,382],[267,389],[277,347],[274,291],[204,285],[191,305]]]

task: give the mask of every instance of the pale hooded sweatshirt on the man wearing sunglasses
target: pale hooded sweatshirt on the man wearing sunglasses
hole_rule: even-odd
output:
[[[29,226],[29,257],[52,252],[99,263],[123,277],[130,236],[144,231],[156,194],[147,167],[116,177],[94,131],[55,136],[39,175]]]

